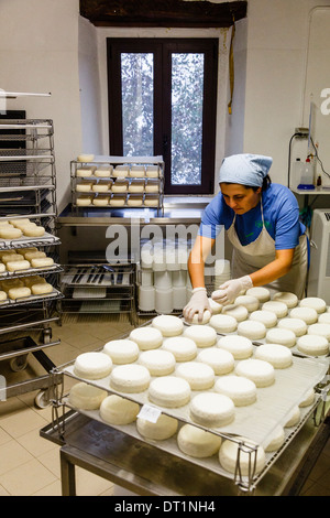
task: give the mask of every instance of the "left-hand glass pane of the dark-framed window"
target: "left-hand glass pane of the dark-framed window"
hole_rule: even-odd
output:
[[[153,68],[152,53],[121,54],[124,157],[154,154]]]

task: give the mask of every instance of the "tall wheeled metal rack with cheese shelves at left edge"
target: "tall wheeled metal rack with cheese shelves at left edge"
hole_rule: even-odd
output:
[[[1,262],[6,253],[23,253],[23,249],[44,251],[53,259],[47,267],[11,269],[0,272],[0,289],[26,284],[29,278],[43,278],[52,284],[50,293],[29,296],[9,296],[0,304],[0,361],[9,361],[13,371],[28,366],[32,354],[45,369],[45,376],[6,386],[6,397],[40,390],[35,403],[50,403],[50,373],[55,367],[44,353],[45,348],[61,342],[53,338],[52,325],[61,323],[57,301],[58,265],[56,236],[56,169],[54,153],[54,127],[50,119],[8,119],[0,115],[0,225],[19,223],[29,218],[42,226],[42,237],[0,238]],[[3,266],[3,265],[2,265]],[[30,279],[31,281],[31,279]],[[11,283],[11,284],[10,284]],[[26,284],[28,285],[28,284]],[[3,398],[2,398],[3,399]]]

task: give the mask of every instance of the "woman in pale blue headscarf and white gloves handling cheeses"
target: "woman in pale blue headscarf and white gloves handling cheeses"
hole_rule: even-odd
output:
[[[188,260],[193,295],[184,309],[191,321],[209,309],[204,280],[205,261],[220,226],[233,246],[232,280],[220,285],[212,299],[232,303],[252,287],[267,287],[304,296],[307,278],[307,237],[299,222],[294,194],[271,182],[273,160],[256,154],[235,154],[220,168],[220,193],[206,207],[199,234]]]

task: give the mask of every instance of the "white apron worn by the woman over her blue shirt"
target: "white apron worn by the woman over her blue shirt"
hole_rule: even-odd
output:
[[[235,230],[235,218],[227,230],[228,238],[233,246],[232,253],[232,278],[238,279],[243,276],[249,276],[256,270],[265,267],[275,260],[275,240],[270,236],[264,224],[263,205],[261,202],[261,213],[263,228],[257,238],[249,245],[241,245],[239,236]],[[299,238],[299,245],[295,248],[294,260],[292,269],[288,273],[279,279],[266,284],[265,288],[271,290],[271,293],[277,291],[289,291],[296,293],[298,299],[305,296],[306,279],[308,266],[308,251],[307,251],[307,237],[304,234]]]

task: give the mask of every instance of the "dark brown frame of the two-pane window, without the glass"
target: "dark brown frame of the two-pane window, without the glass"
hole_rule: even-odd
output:
[[[213,194],[218,90],[218,46],[216,37],[107,37],[108,111],[110,154],[123,155],[121,53],[154,54],[154,154],[165,162],[165,194]],[[201,183],[170,184],[170,65],[172,53],[204,53],[204,107]],[[167,107],[167,108],[166,108]]]

